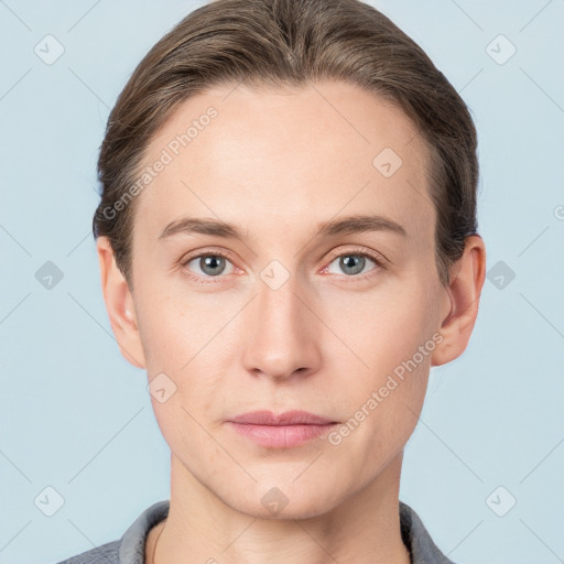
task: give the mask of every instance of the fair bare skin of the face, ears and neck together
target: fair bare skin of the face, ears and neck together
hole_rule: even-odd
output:
[[[138,196],[133,291],[108,240],[97,241],[122,355],[149,381],[164,372],[176,386],[164,403],[151,397],[171,447],[171,509],[151,531],[147,562],[161,533],[161,564],[408,564],[398,507],[403,448],[430,368],[467,346],[484,242],[467,239],[443,286],[426,147],[400,109],[340,82],[198,94],[151,140],[145,164],[209,106],[218,117]],[[372,164],[387,147],[402,159],[390,177]],[[318,224],[356,214],[383,216],[405,235],[316,236]],[[245,239],[160,239],[185,216],[234,224]],[[218,274],[199,259],[182,264],[188,252],[218,251],[228,256]],[[366,259],[351,274],[339,258],[359,252],[386,260]],[[261,279],[272,260],[290,275],[275,290]],[[442,337],[434,350],[338,445],[318,437],[272,449],[226,423],[257,409],[347,422],[433,335]],[[276,514],[261,502],[273,487],[288,499]]]

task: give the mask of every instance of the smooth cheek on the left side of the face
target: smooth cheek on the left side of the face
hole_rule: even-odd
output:
[[[164,294],[145,300],[139,312],[148,379],[156,381],[164,373],[165,388],[173,390],[164,402],[151,398],[154,415],[172,452],[204,452],[208,435],[202,425],[215,432],[224,392],[214,336],[226,319],[206,316],[208,307],[202,301],[188,307],[180,297]],[[205,446],[208,459],[219,455],[214,448],[214,444]]]

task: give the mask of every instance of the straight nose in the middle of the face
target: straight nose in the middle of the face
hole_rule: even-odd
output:
[[[243,365],[250,373],[281,381],[318,370],[323,324],[300,285],[292,275],[275,290],[257,281],[245,319]]]

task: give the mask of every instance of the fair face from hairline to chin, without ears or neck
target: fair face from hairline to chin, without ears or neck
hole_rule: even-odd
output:
[[[327,82],[193,97],[159,160],[132,303],[173,458],[238,511],[268,514],[269,491],[283,517],[329,511],[401,457],[441,340],[425,145],[398,108]],[[230,423],[256,410],[336,424],[274,444]]]

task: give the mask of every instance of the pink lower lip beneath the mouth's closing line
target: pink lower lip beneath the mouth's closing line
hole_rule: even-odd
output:
[[[289,448],[328,433],[337,423],[326,425],[252,425],[229,422],[241,435],[269,448]]]

